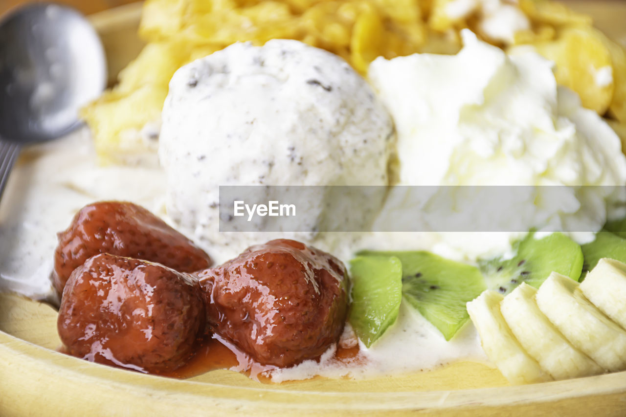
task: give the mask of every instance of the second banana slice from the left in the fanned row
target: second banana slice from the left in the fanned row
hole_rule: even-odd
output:
[[[521,346],[555,379],[602,373],[604,370],[574,348],[540,311],[536,292],[522,282],[500,303],[502,316]]]

